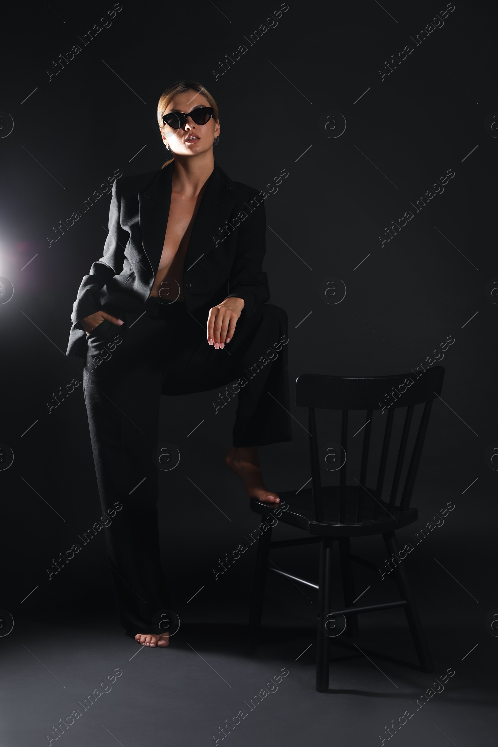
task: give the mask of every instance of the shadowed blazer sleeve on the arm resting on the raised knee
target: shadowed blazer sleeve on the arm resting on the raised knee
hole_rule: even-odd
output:
[[[257,193],[258,194],[258,193]],[[255,205],[254,196],[249,212],[246,205],[246,218],[240,223],[237,236],[237,249],[228,281],[230,293],[226,298],[242,298],[245,318],[254,314],[261,303],[270,298],[267,273],[263,272],[263,259],[266,253],[267,217],[264,202]],[[249,214],[248,214],[249,212]]]

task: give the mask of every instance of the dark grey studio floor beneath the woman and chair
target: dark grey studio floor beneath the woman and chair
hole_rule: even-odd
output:
[[[93,747],[201,746],[217,740],[265,747],[363,747],[382,739],[417,747],[497,744],[496,666],[490,661],[497,639],[483,626],[482,633],[469,634],[469,621],[452,618],[450,627],[438,627],[427,611],[435,658],[434,675],[427,675],[392,660],[415,662],[401,610],[363,616],[358,639],[339,636],[333,642],[332,692],[325,694],[314,689],[312,627],[295,624],[293,610],[286,616],[272,598],[270,617],[278,609],[281,624],[264,628],[255,658],[243,648],[243,625],[187,622],[161,650],[138,646],[113,621],[27,620],[1,639],[1,747],[59,739],[66,746]],[[420,695],[447,669],[455,675],[443,692],[416,710]],[[96,689],[107,692],[90,704],[87,698]],[[261,689],[270,692],[255,704]],[[387,740],[386,727],[406,710],[414,716]],[[238,722],[240,711],[247,715]],[[76,715],[57,738],[57,724]],[[221,731],[232,719],[233,731]]]

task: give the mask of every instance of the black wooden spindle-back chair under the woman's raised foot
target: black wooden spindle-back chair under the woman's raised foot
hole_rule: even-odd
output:
[[[278,492],[281,505],[286,503],[289,506],[287,510],[281,512],[278,521],[283,521],[285,524],[291,524],[293,527],[304,530],[310,536],[272,542],[271,526],[261,533],[258,539],[258,556],[252,592],[249,641],[252,651],[255,651],[261,625],[267,571],[273,571],[297,583],[304,583],[308,589],[315,589],[319,595],[317,624],[317,690],[319,692],[327,692],[329,689],[329,634],[331,633],[331,627],[340,620],[343,621],[345,619],[347,635],[352,637],[358,636],[358,614],[360,613],[388,610],[392,607],[403,607],[420,660],[420,669],[423,672],[432,672],[434,669],[402,562],[397,564],[393,562],[393,572],[388,576],[396,580],[401,597],[399,601],[355,606],[352,561],[365,565],[367,568],[375,571],[379,571],[379,566],[352,554],[350,538],[382,534],[388,556],[392,557],[391,554],[393,554],[395,557],[398,557],[399,549],[396,540],[396,530],[412,524],[418,518],[417,509],[410,508],[411,494],[414,489],[415,477],[417,476],[417,469],[429,424],[432,400],[441,394],[443,376],[444,368],[442,366],[435,366],[435,368],[423,371],[420,375],[413,371],[395,376],[365,377],[323,376],[307,373],[299,376],[296,380],[296,405],[308,407],[311,488],[299,489],[297,492]],[[425,406],[423,407],[417,435],[411,438],[410,427],[415,407],[422,404]],[[399,438],[399,450],[396,458],[396,466],[393,469],[390,496],[388,499],[383,499],[383,487],[385,486],[387,477],[387,458],[389,456],[394,415],[396,410],[405,407],[407,409],[402,433]],[[324,456],[323,449],[319,450],[315,409],[342,410],[340,449],[336,448],[335,451],[340,451],[343,456],[333,453],[333,450],[329,450],[329,453]],[[352,465],[349,463],[351,460],[347,458],[347,454],[350,453],[348,452],[349,410],[367,410],[366,422],[362,429],[363,447],[360,479],[355,480],[355,484],[352,485],[346,484],[346,470],[349,472],[349,477],[352,477]],[[385,421],[382,450],[379,448],[379,470],[377,472],[375,488],[367,486],[367,467],[374,410],[380,411],[376,413],[376,418],[381,418],[381,422],[382,419]],[[358,433],[358,435],[360,434]],[[351,438],[350,436],[350,443]],[[411,459],[408,471],[405,474],[401,498],[399,503],[396,504],[403,461],[409,439],[411,441],[414,440],[414,444],[411,447]],[[342,467],[340,467],[340,470],[338,470],[339,485],[322,486],[320,465],[323,467],[324,461],[331,458],[339,458],[340,463],[342,463],[344,456],[346,456],[346,460]],[[393,459],[390,459],[390,462],[393,462]],[[255,499],[251,500],[252,511],[262,516],[273,513],[271,509],[274,508],[275,504],[270,506],[268,503],[263,503]],[[270,524],[274,524],[274,521],[270,522]],[[333,610],[331,608],[332,543],[335,540],[339,543],[340,552],[344,598],[344,608],[342,610]],[[269,562],[270,550],[274,548],[288,548],[294,545],[306,545],[310,542],[320,542],[320,563],[317,584],[292,574],[287,574],[272,565],[271,561]],[[386,568],[382,568],[382,571],[385,570]],[[334,631],[338,629],[339,625],[334,627]]]

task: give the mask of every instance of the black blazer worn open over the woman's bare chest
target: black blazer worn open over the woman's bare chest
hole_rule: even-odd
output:
[[[126,176],[113,184],[104,255],[81,281],[71,315],[66,356],[87,356],[81,320],[100,309],[143,310],[159,260],[171,202],[173,161],[160,171]],[[208,311],[228,297],[244,300],[238,323],[270,298],[265,254],[263,198],[232,182],[215,162],[184,259],[184,302],[203,325]]]

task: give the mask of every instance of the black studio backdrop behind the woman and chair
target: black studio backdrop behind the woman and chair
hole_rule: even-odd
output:
[[[402,373],[454,336],[415,489],[414,529],[448,500],[455,509],[409,568],[443,627],[458,616],[491,645],[484,617],[498,607],[491,581],[497,472],[485,451],[498,442],[498,306],[489,293],[498,276],[498,139],[485,120],[498,113],[495,5],[458,1],[443,28],[413,43],[382,81],[385,61],[445,3],[290,2],[277,27],[249,46],[246,37],[277,3],[127,1],[111,27],[49,81],[53,61],[82,46],[78,37],[112,7],[16,4],[4,30],[2,132],[6,113],[14,126],[0,139],[0,275],[14,294],[0,306],[0,441],[14,462],[0,472],[1,607],[14,618],[76,619],[90,611],[115,619],[103,536],[51,581],[46,573],[100,516],[82,387],[50,415],[47,403],[73,376],[82,378],[82,362],[64,356],[69,317],[81,277],[102,255],[110,197],[52,246],[46,237],[114,170],[161,168],[157,102],[166,86],[187,78],[217,101],[214,154],[231,179],[263,189],[281,170],[289,173],[265,202],[264,269],[271,302],[289,317],[291,400],[301,373]],[[216,80],[219,61],[240,44],[248,51]],[[320,125],[332,112],[346,119],[333,139]],[[447,170],[455,176],[444,193],[382,247],[385,226]],[[329,278],[346,285],[337,305],[320,295]],[[215,400],[217,391],[163,399],[160,440],[181,454],[178,467],[161,474],[164,566],[181,616],[243,622],[254,548],[216,582],[211,569],[258,521],[223,463],[235,404],[215,415]],[[293,442],[261,450],[277,491],[310,476],[306,413],[294,404],[291,412]],[[307,557],[312,568],[316,558]],[[289,561],[292,568],[292,553]]]

